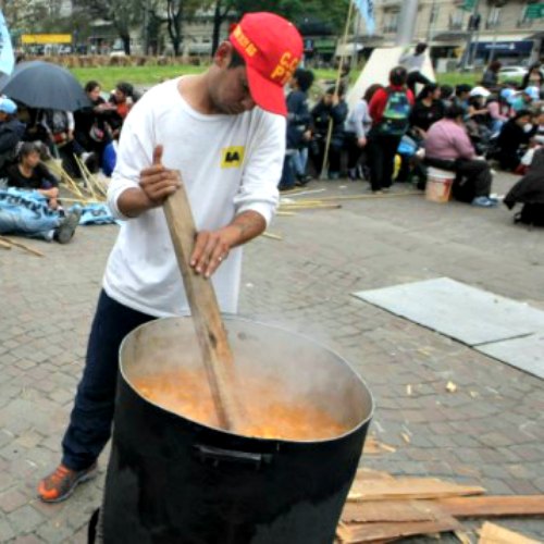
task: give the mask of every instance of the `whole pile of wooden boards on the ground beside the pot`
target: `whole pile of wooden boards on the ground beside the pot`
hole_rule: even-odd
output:
[[[453,532],[460,542],[468,544],[473,541],[460,519],[544,515],[544,495],[490,496],[484,493],[483,487],[475,485],[459,485],[434,478],[395,478],[386,472],[360,469],[342,514],[337,542],[375,544]],[[479,542],[535,542],[504,531],[486,523]],[[496,537],[497,534],[506,540]]]

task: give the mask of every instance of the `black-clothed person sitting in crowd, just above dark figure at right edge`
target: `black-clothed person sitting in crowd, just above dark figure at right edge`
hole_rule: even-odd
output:
[[[516,172],[520,166],[524,148],[536,132],[531,120],[530,110],[519,110],[500,129],[494,158],[498,160],[503,170]]]

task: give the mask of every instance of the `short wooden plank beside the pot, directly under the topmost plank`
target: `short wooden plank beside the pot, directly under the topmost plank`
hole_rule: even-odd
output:
[[[430,500],[364,500],[346,503],[342,512],[345,523],[436,521],[444,510]]]

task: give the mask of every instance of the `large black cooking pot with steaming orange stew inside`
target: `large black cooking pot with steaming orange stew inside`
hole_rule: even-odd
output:
[[[238,375],[281,379],[349,429],[313,442],[262,440],[206,426],[143,398],[149,369],[197,368],[189,318],[163,319],[121,347],[103,542],[330,544],[355,477],[372,397],[337,355],[283,330],[225,320]],[[183,384],[182,384],[183,386]]]

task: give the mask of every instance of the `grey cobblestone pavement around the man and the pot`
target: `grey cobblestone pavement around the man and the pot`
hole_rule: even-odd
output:
[[[499,175],[495,189],[504,193],[514,180]],[[366,191],[345,182],[309,189],[319,187],[326,188],[319,196]],[[2,543],[86,542],[107,453],[100,478],[63,504],[40,504],[35,486],[59,461],[116,231],[82,227],[67,246],[29,242],[47,254],[41,259],[0,250]],[[367,380],[376,400],[371,432],[396,452],[367,457],[366,466],[481,484],[494,494],[544,493],[542,381],[351,296],[449,276],[544,309],[543,230],[515,226],[504,207],[387,196],[282,217],[271,231],[283,240],[247,247],[240,312],[318,339]],[[448,381],[456,393],[446,392]],[[542,520],[503,523],[544,539]]]

